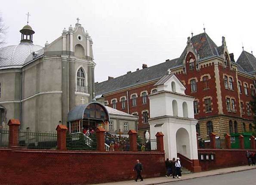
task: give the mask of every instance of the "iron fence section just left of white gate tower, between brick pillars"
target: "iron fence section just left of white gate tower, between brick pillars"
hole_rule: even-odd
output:
[[[156,139],[137,139],[137,149],[138,151],[156,151],[157,150],[157,140]]]

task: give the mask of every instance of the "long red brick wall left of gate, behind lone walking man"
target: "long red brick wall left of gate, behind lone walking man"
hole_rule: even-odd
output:
[[[0,184],[80,185],[132,180],[139,159],[144,178],[165,174],[161,152],[0,149]]]

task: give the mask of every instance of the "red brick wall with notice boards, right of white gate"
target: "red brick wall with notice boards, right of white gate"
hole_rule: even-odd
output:
[[[248,164],[246,151],[242,149],[198,149],[198,158],[202,171],[235,167]],[[256,152],[252,149],[249,151]],[[200,160],[200,154],[204,154],[204,160]],[[213,154],[213,160],[211,160],[211,154]],[[209,156],[209,160],[206,160],[206,155]]]

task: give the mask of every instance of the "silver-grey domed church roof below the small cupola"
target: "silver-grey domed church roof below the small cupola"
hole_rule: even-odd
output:
[[[0,68],[21,68],[32,52],[42,48],[42,46],[27,42],[0,48]]]

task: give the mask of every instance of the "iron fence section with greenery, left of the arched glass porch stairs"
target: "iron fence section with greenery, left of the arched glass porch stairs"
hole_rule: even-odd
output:
[[[68,150],[97,150],[96,133],[91,136],[86,136],[83,133],[67,133],[67,149]]]

